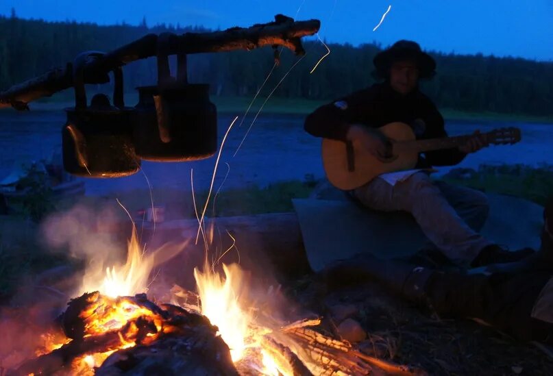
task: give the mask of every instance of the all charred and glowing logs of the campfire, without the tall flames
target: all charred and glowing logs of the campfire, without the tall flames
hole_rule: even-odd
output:
[[[182,288],[172,290],[186,301],[198,299]],[[347,341],[310,329],[321,324],[319,318],[280,330],[251,323],[256,344],[233,364],[219,329],[193,312],[198,310],[156,305],[145,294],[118,298],[99,292],[83,294],[69,302],[58,320],[65,343],[7,375],[424,375],[369,357]]]

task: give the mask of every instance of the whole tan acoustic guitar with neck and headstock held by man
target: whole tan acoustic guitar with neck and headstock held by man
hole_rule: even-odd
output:
[[[474,135],[416,140],[413,129],[405,123],[389,123],[376,129],[392,144],[392,157],[383,160],[360,147],[357,142],[323,139],[322,155],[326,176],[342,190],[358,188],[383,173],[415,168],[419,153],[465,145]],[[494,129],[480,134],[489,145],[519,142],[520,129]]]

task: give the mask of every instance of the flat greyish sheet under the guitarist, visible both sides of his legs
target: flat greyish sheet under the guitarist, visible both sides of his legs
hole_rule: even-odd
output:
[[[539,247],[543,208],[516,197],[488,196],[490,216],[482,234],[509,249]],[[348,200],[295,199],[293,203],[314,271],[356,253],[380,258],[413,254],[427,241],[407,213],[376,212]]]

